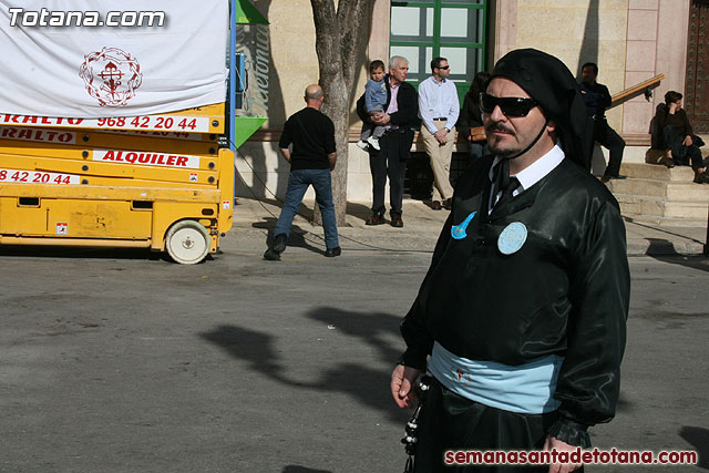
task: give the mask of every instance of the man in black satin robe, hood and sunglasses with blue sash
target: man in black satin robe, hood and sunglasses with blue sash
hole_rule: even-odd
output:
[[[456,450],[588,448],[587,428],[614,417],[619,393],[625,227],[616,199],[583,168],[587,120],[574,76],[546,53],[512,51],[481,109],[494,155],[456,184],[392,372],[399,407],[417,400],[421,372],[433,376],[417,472],[517,469],[444,465]]]

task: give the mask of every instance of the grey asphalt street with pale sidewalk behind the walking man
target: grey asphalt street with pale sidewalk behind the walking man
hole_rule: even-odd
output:
[[[224,253],[196,266],[0,248],[1,472],[403,470],[388,378],[443,213],[353,225],[333,259],[314,230],[271,263],[273,217],[236,208]],[[709,260],[630,261],[621,402],[594,442],[698,450],[699,466],[649,471],[707,471]]]

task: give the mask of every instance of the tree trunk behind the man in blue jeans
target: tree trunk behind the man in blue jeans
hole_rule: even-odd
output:
[[[332,173],[332,198],[338,226],[347,215],[347,161],[349,119],[354,75],[364,52],[368,31],[362,27],[371,12],[372,0],[310,0],[316,30],[316,52],[320,68],[319,84],[325,92],[322,113],[335,124],[337,165]],[[318,206],[315,222],[322,223]]]

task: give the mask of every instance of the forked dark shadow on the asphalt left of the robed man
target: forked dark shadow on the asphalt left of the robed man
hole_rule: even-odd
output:
[[[392,367],[398,358],[399,349],[390,345],[387,338],[399,332],[399,316],[389,313],[364,313],[322,307],[307,313],[306,317],[318,320],[323,325],[335,326],[337,330],[349,337],[358,338],[362,350],[373,349],[381,361]],[[277,339],[265,332],[222,325],[213,330],[201,333],[201,337],[222,348],[235,359],[248,362],[248,369],[261,376],[267,376],[285,385],[299,390],[309,389],[323,392],[341,392],[354,398],[362,404],[383,412],[392,421],[399,422],[408,415],[395,409],[389,393],[391,371],[378,370],[361,364],[356,358],[338,366],[320,371],[316,381],[291,379],[286,373],[281,350],[278,350]],[[363,342],[363,343],[362,343]],[[347,380],[347,382],[342,382]]]

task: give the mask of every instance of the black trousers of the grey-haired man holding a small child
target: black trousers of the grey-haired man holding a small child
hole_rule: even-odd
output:
[[[389,204],[392,217],[401,217],[403,206],[403,178],[407,161],[402,160],[402,133],[387,133],[379,138],[379,152],[369,153],[369,168],[372,173],[372,212],[384,215],[384,188],[389,178]],[[405,151],[408,155],[408,150]]]

